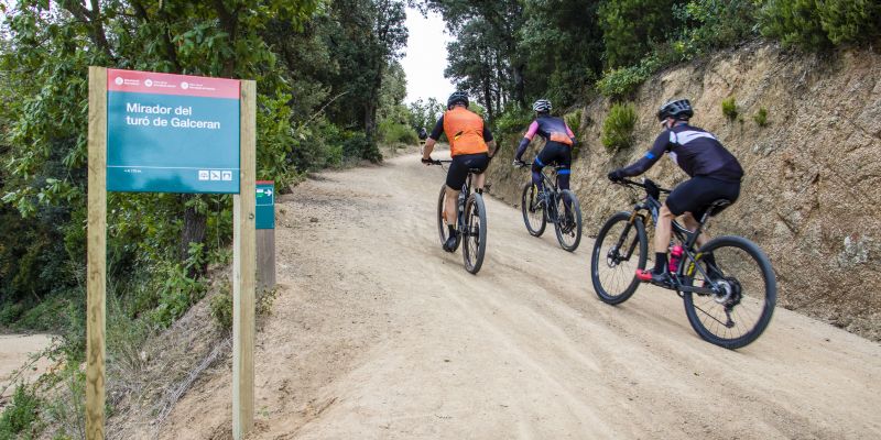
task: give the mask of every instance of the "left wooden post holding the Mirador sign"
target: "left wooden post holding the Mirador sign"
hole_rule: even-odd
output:
[[[89,67],[86,439],[104,439],[107,289],[107,69]]]

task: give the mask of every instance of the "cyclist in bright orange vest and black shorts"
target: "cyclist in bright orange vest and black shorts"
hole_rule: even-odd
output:
[[[468,94],[464,91],[455,91],[449,96],[447,111],[437,120],[422,151],[422,163],[431,165],[434,145],[440,139],[440,133],[446,133],[449,140],[449,154],[453,157],[447,170],[444,206],[444,219],[449,229],[449,238],[444,243],[444,250],[447,252],[453,252],[456,246],[456,204],[468,172],[471,168],[480,169],[475,179],[475,188],[478,193],[482,193],[486,182],[482,172],[487,169],[489,160],[496,153],[492,133],[483,123],[483,118],[468,110]]]

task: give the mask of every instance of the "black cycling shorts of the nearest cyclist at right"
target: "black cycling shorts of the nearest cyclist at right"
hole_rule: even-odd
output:
[[[740,182],[695,176],[674,188],[665,204],[674,216],[690,212],[699,221],[714,201],[727,199],[733,204],[739,196]]]

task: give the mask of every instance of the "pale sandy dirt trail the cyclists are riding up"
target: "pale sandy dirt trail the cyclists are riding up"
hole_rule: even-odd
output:
[[[443,179],[407,155],[280,199],[249,438],[881,438],[878,344],[779,309],[752,345],[710,345],[670,293],[600,302],[590,239],[566,253],[492,199],[469,275],[438,243]],[[215,369],[160,437],[229,438],[229,383]]]

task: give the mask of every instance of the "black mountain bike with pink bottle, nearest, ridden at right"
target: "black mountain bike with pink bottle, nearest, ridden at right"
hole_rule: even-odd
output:
[[[619,184],[634,193],[634,188],[643,188],[645,197],[635,202],[632,211],[611,216],[594,244],[590,279],[599,299],[610,305],[628,300],[639,287],[635,271],[645,268],[649,252],[646,215],[656,222],[661,194],[670,194],[650,179],[622,179]],[[700,338],[726,349],[739,349],[753,342],[768,327],[777,288],[768,256],[742,237],[717,237],[695,249],[709,218],[728,205],[730,201],[725,199],[710,204],[695,231],[673,221],[672,242],[683,252],[677,258],[671,257],[668,288],[683,298],[688,322]]]

